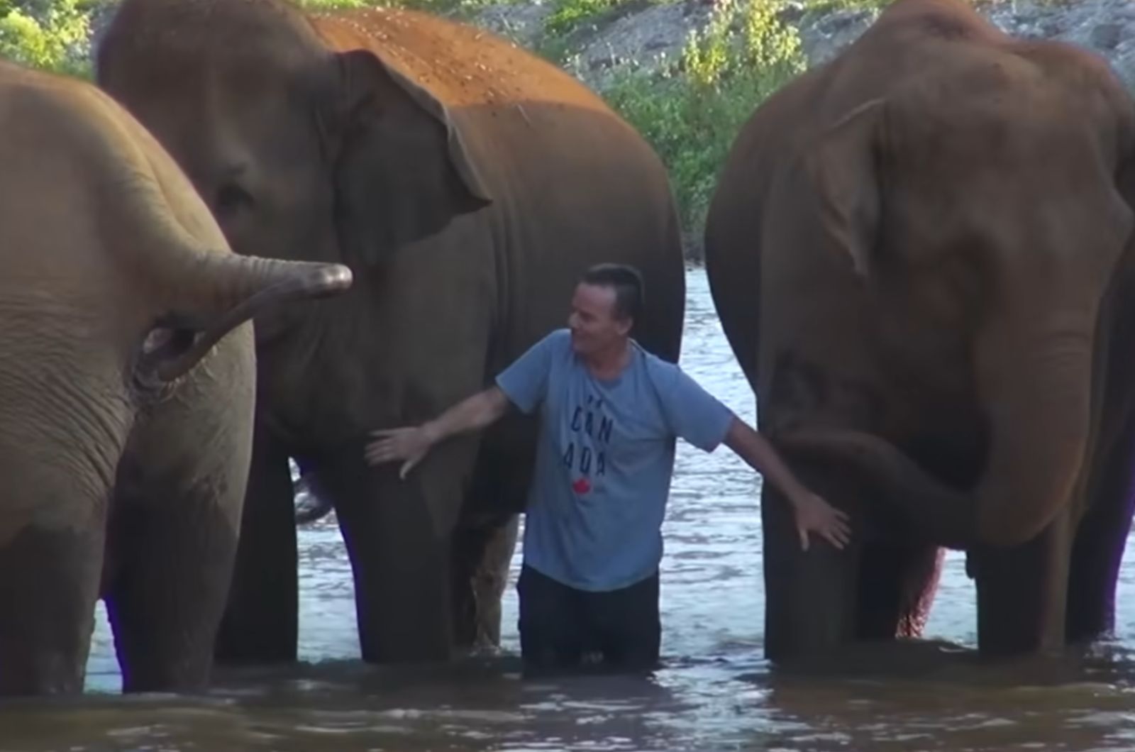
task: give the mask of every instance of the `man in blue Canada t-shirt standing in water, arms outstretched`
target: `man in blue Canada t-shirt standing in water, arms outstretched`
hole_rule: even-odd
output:
[[[724,442],[791,501],[800,545],[809,533],[836,548],[848,518],[804,488],[771,444],[674,364],[630,337],[644,300],[639,273],[589,269],[568,329],[532,345],[496,385],[413,428],[376,431],[371,465],[410,471],[448,436],[485,428],[510,404],[540,409],[524,521],[520,644],[526,670],[579,666],[600,653],[621,669],[658,660],[662,523],[681,436],[712,452]]]

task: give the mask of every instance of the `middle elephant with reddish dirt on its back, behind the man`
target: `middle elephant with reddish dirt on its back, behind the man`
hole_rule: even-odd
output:
[[[439,661],[485,635],[535,461],[507,416],[414,473],[369,467],[370,432],[484,388],[569,312],[582,271],[636,266],[633,336],[675,361],[686,303],[669,176],[555,66],[488,32],[396,9],[125,0],[95,75],[190,175],[233,249],[347,265],[318,312],[257,320],[258,403],[227,663],[296,660],[288,458],[318,477],[372,663]]]

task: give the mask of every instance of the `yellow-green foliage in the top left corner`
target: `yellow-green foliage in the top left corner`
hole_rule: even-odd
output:
[[[0,0],[0,56],[36,68],[87,75],[91,10],[81,0]]]

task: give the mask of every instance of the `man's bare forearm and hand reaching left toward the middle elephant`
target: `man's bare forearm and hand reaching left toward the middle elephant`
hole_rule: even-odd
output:
[[[375,441],[367,444],[367,463],[381,465],[402,460],[398,477],[409,473],[430,448],[449,436],[479,431],[499,419],[508,410],[508,398],[498,386],[478,392],[439,415],[434,420],[407,428],[372,431]]]

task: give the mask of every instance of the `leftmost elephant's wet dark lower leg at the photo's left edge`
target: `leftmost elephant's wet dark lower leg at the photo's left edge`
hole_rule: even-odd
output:
[[[83,691],[103,524],[28,526],[0,544],[0,694]]]

